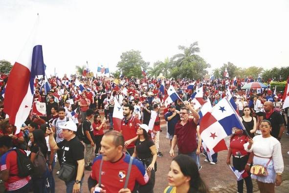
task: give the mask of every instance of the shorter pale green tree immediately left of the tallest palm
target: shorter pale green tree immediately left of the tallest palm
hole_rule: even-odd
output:
[[[158,76],[160,73],[162,73],[166,78],[170,78],[170,69],[172,68],[172,60],[170,60],[168,57],[165,58],[165,60],[162,61],[156,61],[154,63],[153,68],[149,67],[148,73],[151,76]]]

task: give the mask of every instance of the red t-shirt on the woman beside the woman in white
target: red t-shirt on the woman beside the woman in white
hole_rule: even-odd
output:
[[[242,135],[238,137],[233,135],[230,139],[230,148],[233,155],[237,155],[237,152],[240,152],[241,155],[248,155],[249,153],[244,149],[244,144],[248,142],[248,136]]]

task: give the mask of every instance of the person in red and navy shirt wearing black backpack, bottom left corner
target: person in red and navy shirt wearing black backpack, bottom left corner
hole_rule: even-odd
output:
[[[22,151],[22,150],[20,150]],[[25,154],[24,151],[22,151]],[[13,193],[28,193],[30,175],[18,176],[17,153],[12,148],[12,138],[0,137],[1,172],[0,179],[5,183],[5,191]]]

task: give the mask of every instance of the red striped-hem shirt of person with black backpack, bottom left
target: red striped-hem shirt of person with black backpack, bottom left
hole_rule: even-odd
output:
[[[24,153],[24,151],[22,151]],[[31,177],[28,175],[27,177],[21,178],[18,176],[18,166],[17,166],[17,153],[14,150],[9,150],[1,156],[1,171],[8,169],[9,170],[9,178],[4,183],[7,191],[15,191],[26,184],[28,184]]]

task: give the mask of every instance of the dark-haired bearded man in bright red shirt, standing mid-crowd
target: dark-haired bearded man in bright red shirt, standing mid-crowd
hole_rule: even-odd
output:
[[[136,130],[138,128],[137,123],[141,124],[139,119],[133,116],[133,105],[125,104],[123,106],[123,116],[121,121],[120,132],[122,133],[125,143],[124,146],[130,155],[133,155],[134,141],[137,140]]]

